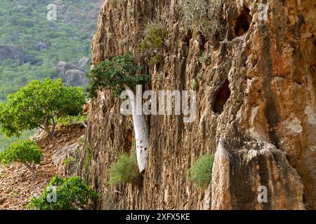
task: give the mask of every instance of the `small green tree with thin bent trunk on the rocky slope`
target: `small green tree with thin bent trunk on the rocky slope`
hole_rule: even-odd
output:
[[[20,162],[32,172],[34,179],[37,179],[37,176],[32,164],[39,164],[42,158],[43,155],[41,149],[34,141],[30,140],[13,143],[7,151],[0,153],[0,161],[2,165],[9,165],[12,162]]]

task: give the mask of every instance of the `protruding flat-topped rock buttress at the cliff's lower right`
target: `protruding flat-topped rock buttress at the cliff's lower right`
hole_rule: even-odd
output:
[[[304,209],[301,178],[272,144],[220,141],[215,155],[211,209]]]

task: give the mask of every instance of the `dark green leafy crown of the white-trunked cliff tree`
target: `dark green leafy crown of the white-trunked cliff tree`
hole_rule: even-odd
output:
[[[124,85],[133,88],[135,85],[142,85],[150,81],[150,76],[140,74],[142,68],[136,64],[131,52],[124,56],[114,57],[96,64],[86,75],[90,80],[86,92],[89,97],[96,97],[96,91],[106,87],[119,95],[124,90]]]

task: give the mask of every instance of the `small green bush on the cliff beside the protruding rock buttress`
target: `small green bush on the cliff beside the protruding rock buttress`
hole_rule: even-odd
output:
[[[213,162],[214,155],[202,155],[189,169],[189,180],[195,183],[199,188],[209,186],[212,176]]]

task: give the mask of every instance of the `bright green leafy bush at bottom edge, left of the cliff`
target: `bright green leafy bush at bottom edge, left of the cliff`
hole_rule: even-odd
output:
[[[55,187],[55,202],[49,202],[52,189]],[[38,197],[33,197],[27,209],[36,210],[81,210],[91,209],[91,202],[98,198],[95,190],[86,186],[79,176],[61,179],[54,176],[48,183],[44,192]]]

